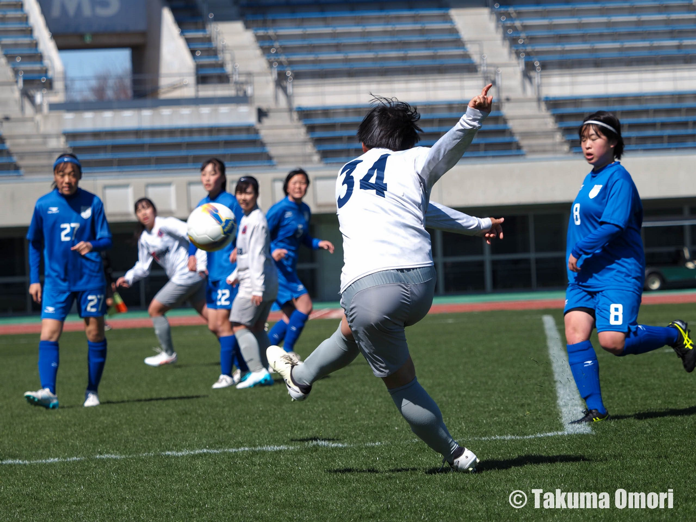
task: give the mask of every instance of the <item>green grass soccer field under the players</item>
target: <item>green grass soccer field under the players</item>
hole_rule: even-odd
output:
[[[564,429],[544,314],[562,334],[560,310],[430,315],[407,331],[419,381],[482,459],[476,474],[437,473],[438,455],[362,358],[296,403],[280,382],[212,390],[218,351],[205,327],[175,329],[179,362],[161,368],[142,362],[151,330],[111,331],[102,406],[85,409],[86,342],[65,333],[61,407],[48,411],[22,398],[39,387],[38,336],[3,336],[0,520],[696,520],[696,372],[671,349],[598,351],[612,420],[592,434],[505,437]],[[696,321],[696,305],[644,306],[640,322],[680,317]],[[310,322],[300,354],[336,324]],[[606,491],[611,507],[534,509],[535,488]],[[617,509],[617,488],[673,489],[674,509]],[[514,490],[530,497],[522,509],[509,505]]]

